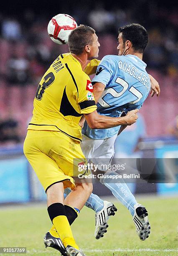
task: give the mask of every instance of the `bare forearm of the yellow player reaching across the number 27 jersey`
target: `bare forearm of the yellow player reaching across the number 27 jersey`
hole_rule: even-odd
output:
[[[86,122],[92,129],[111,128],[118,125],[132,125],[137,121],[138,109],[131,110],[124,117],[112,118],[109,116],[99,115],[97,110],[92,113],[84,114]]]

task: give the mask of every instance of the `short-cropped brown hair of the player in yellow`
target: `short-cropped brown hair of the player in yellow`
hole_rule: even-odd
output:
[[[73,54],[81,54],[87,44],[93,44],[94,33],[95,30],[86,25],[80,25],[72,30],[68,38],[69,51]]]

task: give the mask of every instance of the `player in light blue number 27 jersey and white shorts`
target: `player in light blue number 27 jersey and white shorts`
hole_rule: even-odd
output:
[[[151,88],[150,77],[145,70],[146,64],[142,61],[148,41],[145,28],[139,24],[121,27],[118,41],[118,56],[104,56],[92,80],[94,97],[98,102],[97,112],[110,117],[119,117],[122,113],[127,114],[130,110],[141,108]],[[114,141],[126,126],[98,130],[85,124],[81,148],[86,158],[91,159],[95,165],[101,162],[110,164],[114,156]],[[100,170],[115,175],[107,169]],[[147,210],[137,203],[124,180],[120,180],[120,183],[109,183],[103,178],[100,182],[130,210],[140,239],[148,238],[150,224]],[[102,201],[94,194],[89,197],[86,206],[96,211],[95,237],[99,239],[106,232],[109,215],[114,215],[116,208],[112,203]]]

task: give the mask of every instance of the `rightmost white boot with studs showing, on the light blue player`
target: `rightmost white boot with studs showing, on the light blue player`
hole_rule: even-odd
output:
[[[150,234],[150,223],[147,218],[148,213],[146,208],[140,204],[135,204],[134,209],[133,222],[136,227],[136,232],[140,239],[144,241]]]

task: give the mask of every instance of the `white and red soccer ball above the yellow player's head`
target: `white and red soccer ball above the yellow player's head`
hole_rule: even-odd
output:
[[[70,15],[58,14],[48,23],[48,35],[56,44],[67,44],[71,31],[77,23]]]

